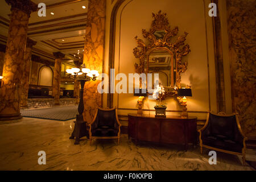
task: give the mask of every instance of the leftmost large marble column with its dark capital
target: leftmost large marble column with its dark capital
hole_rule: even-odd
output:
[[[29,0],[6,0],[11,5],[9,34],[3,63],[3,85],[0,89],[0,120],[19,119],[21,78],[24,71],[24,51],[27,42],[28,19],[37,10]]]

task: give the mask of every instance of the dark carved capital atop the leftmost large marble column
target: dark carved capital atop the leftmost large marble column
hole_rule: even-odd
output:
[[[32,11],[36,11],[38,6],[30,0],[5,0],[8,5],[11,5],[11,9],[19,9],[28,15]]]

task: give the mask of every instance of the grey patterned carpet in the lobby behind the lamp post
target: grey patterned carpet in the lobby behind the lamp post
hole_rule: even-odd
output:
[[[20,113],[23,117],[51,119],[56,121],[68,121],[75,119],[78,106],[64,106],[64,107],[50,107],[44,109],[28,109],[21,110]]]

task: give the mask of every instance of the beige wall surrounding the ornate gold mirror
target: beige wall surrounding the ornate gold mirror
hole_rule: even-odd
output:
[[[146,3],[146,4],[145,4]],[[146,6],[145,6],[146,5]],[[205,0],[132,0],[123,3],[118,10],[115,28],[115,75],[125,73],[134,73],[134,63],[139,63],[133,55],[133,48],[137,47],[134,39],[143,39],[142,28],[147,31],[152,22],[152,13],[158,13],[162,10],[167,13],[169,23],[172,28],[179,27],[179,35],[184,31],[188,32],[187,40],[191,47],[191,53],[184,60],[188,62],[188,69],[181,75],[182,85],[192,86],[193,97],[188,98],[188,111],[193,111],[189,115],[196,115],[199,118],[205,118],[206,114],[202,113],[209,109],[216,111],[216,78],[214,68],[214,49],[212,34],[212,19],[208,16],[209,2]],[[109,50],[109,23],[113,5],[107,3],[106,16],[106,44],[105,44],[105,65],[108,65]],[[205,16],[205,14],[207,16]],[[177,36],[172,39],[176,40]],[[209,68],[208,68],[209,64]],[[108,72],[108,67],[105,67]],[[117,84],[118,81],[115,81]],[[209,84],[210,82],[210,84]],[[209,97],[210,96],[210,97]],[[114,94],[113,106],[119,108],[119,114],[136,112],[137,97],[133,94]],[[168,115],[179,114],[176,111],[181,110],[175,98],[168,98],[167,110],[174,112]],[[143,109],[154,109],[156,101],[145,101]],[[104,97],[106,105],[106,97]],[[148,113],[148,111],[144,111]],[[154,114],[154,112],[151,112]]]

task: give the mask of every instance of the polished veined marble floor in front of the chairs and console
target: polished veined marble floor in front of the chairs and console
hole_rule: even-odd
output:
[[[90,146],[87,139],[75,146],[68,139],[73,127],[73,120],[1,122],[0,170],[254,170],[236,155],[217,152],[217,165],[210,165],[208,151],[201,155],[198,146],[187,152],[178,146],[135,146],[125,134],[119,146],[115,140],[93,140]],[[46,165],[38,164],[39,151],[46,152]]]

